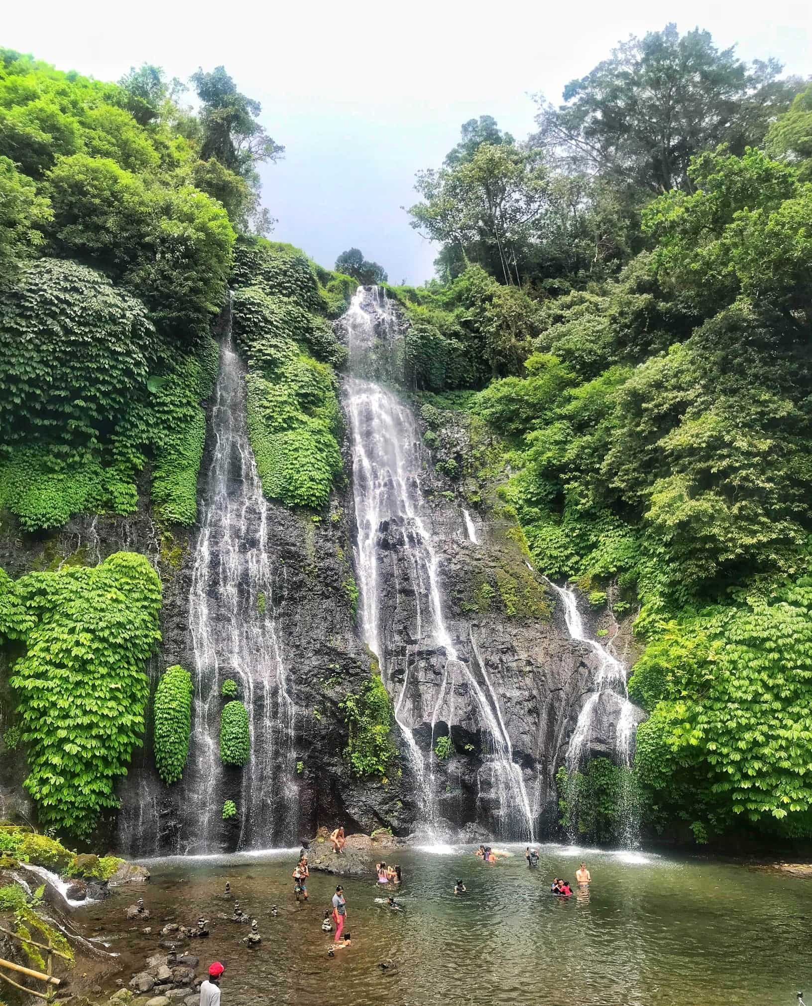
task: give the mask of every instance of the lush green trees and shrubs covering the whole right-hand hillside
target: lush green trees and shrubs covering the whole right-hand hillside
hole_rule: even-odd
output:
[[[641,606],[640,790],[605,760],[560,780],[596,840],[631,789],[698,839],[812,833],[812,106],[779,72],[668,26],[527,144],[471,120],[417,179],[445,282],[393,291],[409,381],[502,438],[496,509],[540,570]]]

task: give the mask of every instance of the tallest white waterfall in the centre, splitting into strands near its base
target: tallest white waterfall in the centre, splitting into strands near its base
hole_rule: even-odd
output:
[[[420,685],[407,664],[394,709],[398,727],[406,741],[420,791],[423,823],[437,831],[437,808],[433,754],[435,730],[442,719],[449,728],[454,716],[454,697],[462,688],[472,698],[479,730],[484,738],[480,773],[489,774],[491,792],[497,794],[498,819],[510,837],[533,837],[533,815],[522,769],[513,761],[513,748],[499,709],[498,699],[484,664],[461,655],[451,639],[439,584],[439,554],[434,544],[431,513],[424,499],[419,474],[422,471],[420,434],[411,409],[374,377],[397,375],[402,330],[392,304],[377,287],[359,288],[343,319],[350,351],[352,376],[345,384],[345,405],[353,441],[353,489],[357,522],[356,572],[360,589],[359,621],[363,637],[379,660],[390,692],[397,692],[389,675],[387,645],[382,638],[381,592],[392,558],[384,537],[398,541],[406,553],[410,593],[416,599],[409,636],[414,650],[434,648],[444,657],[439,693],[430,709],[422,707]],[[468,535],[476,540],[472,523]],[[396,574],[396,573],[395,573]],[[471,668],[476,663],[477,675]],[[410,698],[418,692],[418,700]],[[410,724],[411,721],[411,724]],[[430,721],[429,749],[421,750],[415,728]]]

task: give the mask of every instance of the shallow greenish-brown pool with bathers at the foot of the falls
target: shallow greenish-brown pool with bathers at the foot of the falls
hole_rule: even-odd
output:
[[[153,860],[143,891],[120,889],[74,920],[85,935],[100,930],[110,939],[129,981],[156,952],[165,920],[191,926],[203,913],[211,937],[187,946],[201,966],[227,965],[223,1006],[792,1006],[807,984],[812,993],[810,881],[714,859],[557,845],[540,846],[530,869],[524,846],[508,848],[513,858],[492,866],[473,846],[387,850],[403,867],[396,896],[404,912],[375,902],[372,873],[313,874],[310,902],[296,904],[297,849]],[[581,858],[591,889],[568,900],[551,895],[552,877],[574,883]],[[463,897],[453,894],[457,877],[468,888]],[[258,919],[257,950],[240,942],[247,927],[216,917],[232,911],[215,896],[226,880]],[[331,959],[321,923],[339,882],[353,946]],[[125,919],[139,893],[152,911],[151,936]],[[378,962],[390,958],[397,971],[382,972]]]

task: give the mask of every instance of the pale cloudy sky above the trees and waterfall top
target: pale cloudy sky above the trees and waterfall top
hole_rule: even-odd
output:
[[[460,124],[491,115],[524,139],[532,94],[558,103],[619,39],[670,20],[737,44],[742,58],[776,56],[787,73],[812,73],[809,0],[32,0],[3,5],[0,44],[99,79],[144,61],[184,79],[224,64],[286,148],[262,171],[263,202],[278,218],[271,236],[327,267],[355,245],[392,282],[421,283],[436,252],[400,207]]]

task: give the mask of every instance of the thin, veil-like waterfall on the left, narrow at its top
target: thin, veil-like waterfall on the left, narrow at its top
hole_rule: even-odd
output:
[[[238,848],[289,843],[297,825],[294,706],[274,617],[271,520],[248,442],[244,370],[230,323],[209,436],[189,596],[195,692],[179,851],[220,847],[226,799],[237,805]],[[237,682],[248,710],[250,758],[241,772],[220,763],[226,678]]]

